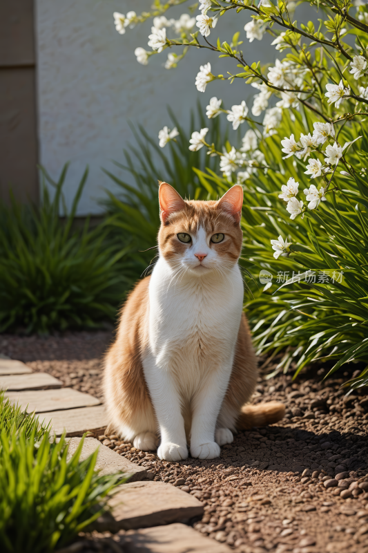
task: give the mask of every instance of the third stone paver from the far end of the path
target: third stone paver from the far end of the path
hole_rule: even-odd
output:
[[[89,407],[99,405],[101,402],[97,397],[81,393],[72,388],[60,388],[59,390],[48,391],[23,391],[7,392],[12,402],[17,403],[22,409],[28,406],[28,413],[48,413],[49,411],[61,411],[64,409],[75,409],[77,407]]]

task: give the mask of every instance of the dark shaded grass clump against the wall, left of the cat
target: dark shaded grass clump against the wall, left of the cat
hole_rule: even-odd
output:
[[[106,243],[107,229],[73,228],[88,171],[77,187],[70,213],[62,194],[67,165],[58,182],[43,170],[41,207],[0,206],[0,332],[95,328],[115,319],[131,283],[128,241]],[[46,179],[55,187],[51,200]],[[65,223],[59,218],[64,204]]]

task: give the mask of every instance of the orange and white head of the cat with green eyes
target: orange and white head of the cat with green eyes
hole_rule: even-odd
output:
[[[235,185],[220,200],[183,200],[173,187],[159,187],[160,255],[175,269],[200,276],[229,270],[242,250],[243,189]]]

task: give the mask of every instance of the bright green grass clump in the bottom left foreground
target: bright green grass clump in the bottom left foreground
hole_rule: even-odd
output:
[[[122,475],[99,476],[97,451],[79,462],[83,440],[67,460],[65,438],[35,441],[25,429],[0,434],[0,542],[4,553],[48,553],[68,543],[102,512]]]

